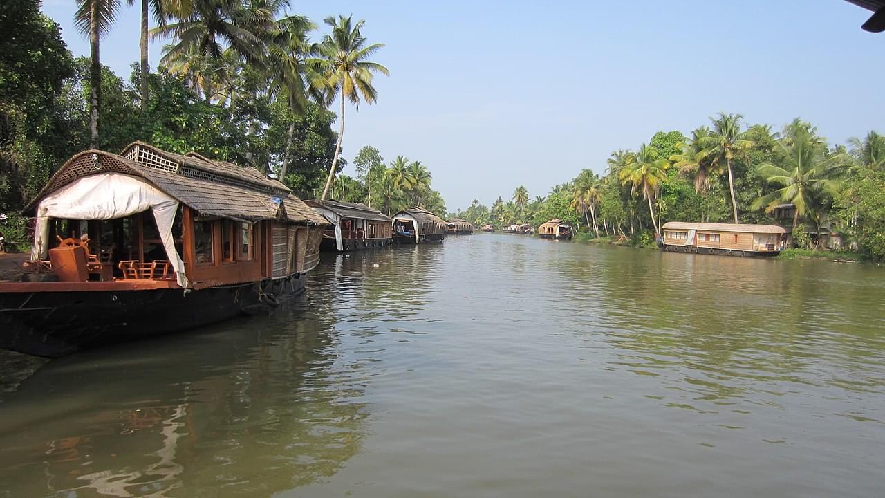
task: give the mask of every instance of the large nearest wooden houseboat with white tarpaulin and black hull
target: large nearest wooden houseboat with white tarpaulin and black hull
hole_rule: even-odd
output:
[[[74,155],[25,214],[0,347],[50,357],[266,311],[303,290],[328,224],[255,168],[142,143]]]

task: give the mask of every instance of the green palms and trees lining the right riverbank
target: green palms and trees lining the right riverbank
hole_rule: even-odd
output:
[[[524,206],[514,192],[491,206],[474,199],[455,215],[498,227],[560,218],[589,234],[579,239],[630,245],[653,244],[667,221],[779,224],[812,253],[885,259],[885,136],[875,131],[829,144],[801,119],[774,131],[720,113],[690,136],[658,132],[635,150],[612,152],[599,169],[604,175],[583,169]]]

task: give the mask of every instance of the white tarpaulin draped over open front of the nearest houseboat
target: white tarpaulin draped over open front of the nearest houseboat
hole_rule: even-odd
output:
[[[40,201],[34,235],[34,260],[45,259],[49,251],[50,218],[67,220],[115,220],[150,209],[163,240],[166,256],[175,268],[182,287],[188,285],[184,261],[175,250],[172,225],[178,201],[140,178],[119,173],[102,173],[80,178]]]

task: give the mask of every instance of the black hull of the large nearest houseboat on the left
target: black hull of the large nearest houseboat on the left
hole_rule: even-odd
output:
[[[304,291],[304,276],[149,291],[0,293],[0,348],[56,358],[84,348],[187,331],[267,312]]]

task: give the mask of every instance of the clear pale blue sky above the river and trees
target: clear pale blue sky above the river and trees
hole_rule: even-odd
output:
[[[74,5],[42,10],[89,56]],[[612,151],[689,135],[720,111],[776,130],[800,117],[831,144],[885,132],[885,34],[862,31],[871,12],[843,0],[293,0],[289,12],[366,19],[390,76],[375,78],[376,104],[346,109],[342,154],[372,145],[420,160],[449,211],[603,174]],[[138,37],[124,6],[102,63],[128,77]],[[150,44],[152,67],[163,43]]]

